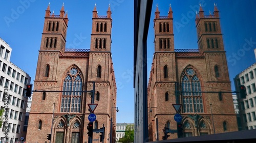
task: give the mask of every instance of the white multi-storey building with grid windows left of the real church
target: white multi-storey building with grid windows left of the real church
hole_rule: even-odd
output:
[[[10,62],[12,48],[9,44],[0,38],[0,45],[0,106],[4,110],[0,139],[4,142],[20,141],[27,132],[24,127],[28,101],[25,93],[31,77]]]

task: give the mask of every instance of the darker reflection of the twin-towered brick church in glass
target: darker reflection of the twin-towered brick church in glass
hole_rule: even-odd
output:
[[[175,49],[173,11],[155,11],[155,53],[148,81],[148,125],[151,141],[162,140],[166,126],[176,130],[181,104],[183,137],[237,131],[219,11],[196,14],[198,49]],[[177,92],[175,92],[177,91]],[[208,92],[208,93],[206,93]],[[177,94],[176,94],[177,93]],[[157,131],[158,129],[158,131]],[[177,133],[168,134],[177,138]]]

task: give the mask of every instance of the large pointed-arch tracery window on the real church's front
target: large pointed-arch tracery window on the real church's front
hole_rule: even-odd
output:
[[[71,68],[63,81],[62,91],[82,91],[81,73],[77,68]],[[80,112],[81,93],[63,92],[61,98],[61,112]]]

